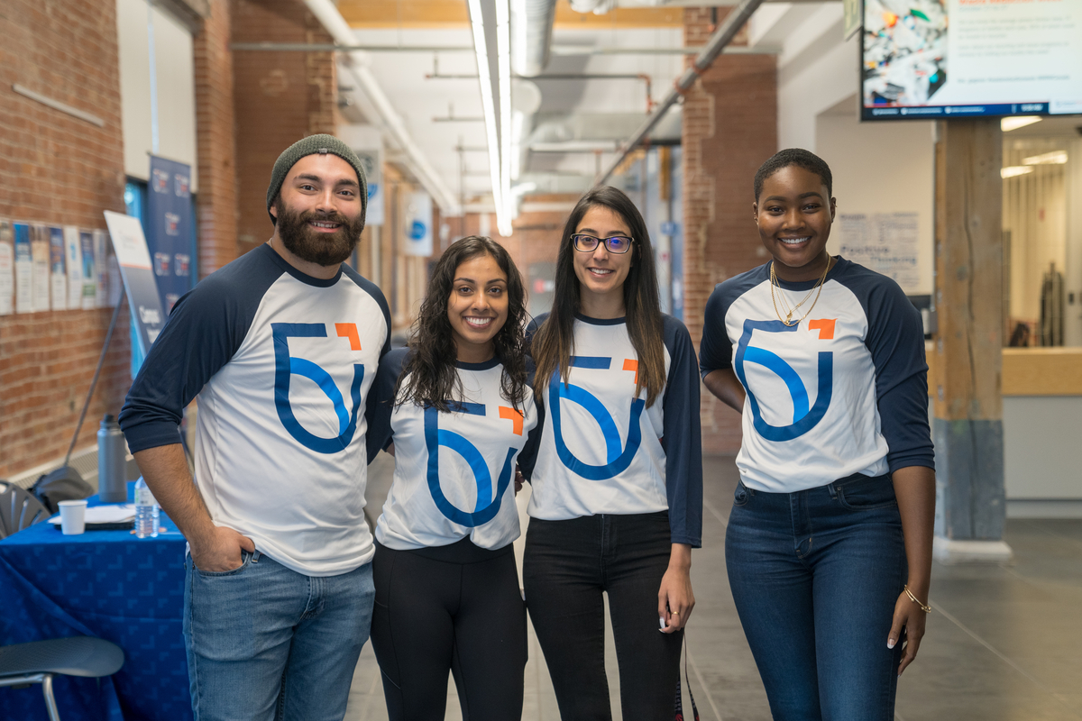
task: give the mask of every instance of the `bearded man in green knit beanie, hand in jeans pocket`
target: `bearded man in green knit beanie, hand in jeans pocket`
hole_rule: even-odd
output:
[[[364,411],[391,337],[383,294],[343,265],[366,203],[341,141],[287,148],[270,240],[176,302],[120,414],[188,540],[196,721],[345,715],[374,596]],[[194,398],[193,479],[177,425]]]

